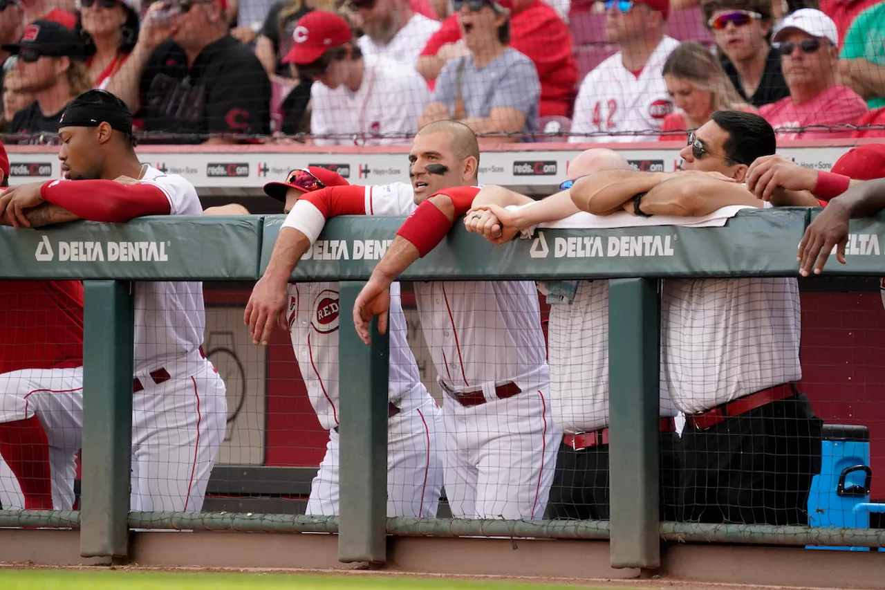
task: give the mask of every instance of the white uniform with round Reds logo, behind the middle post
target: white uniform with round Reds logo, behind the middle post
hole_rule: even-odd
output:
[[[307,514],[336,516],[339,499],[338,283],[289,284],[289,335],[319,423],[329,431],[307,501]],[[350,320],[350,317],[348,317]],[[421,384],[406,342],[399,283],[390,287],[388,516],[436,516],[443,485],[440,410]],[[391,412],[392,413],[392,412]]]

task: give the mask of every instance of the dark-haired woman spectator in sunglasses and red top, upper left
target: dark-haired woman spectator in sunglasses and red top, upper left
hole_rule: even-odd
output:
[[[74,30],[86,48],[89,80],[95,88],[104,89],[135,49],[138,12],[124,0],[78,0],[78,4]]]

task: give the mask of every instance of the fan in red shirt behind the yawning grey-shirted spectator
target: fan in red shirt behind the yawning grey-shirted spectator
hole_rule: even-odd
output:
[[[571,116],[578,66],[566,23],[542,0],[514,0],[510,27],[511,47],[532,60],[541,79],[539,114]],[[417,69],[431,88],[449,58],[466,54],[458,52],[460,38],[458,15],[451,14],[421,51]]]

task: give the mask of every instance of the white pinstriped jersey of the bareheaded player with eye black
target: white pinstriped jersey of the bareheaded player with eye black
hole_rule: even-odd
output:
[[[412,185],[404,182],[366,187],[365,197],[370,215],[410,215],[417,208]],[[487,399],[495,398],[496,385],[510,382],[522,391],[546,390],[550,370],[534,282],[434,281],[415,283],[414,289],[444,386],[482,390]]]

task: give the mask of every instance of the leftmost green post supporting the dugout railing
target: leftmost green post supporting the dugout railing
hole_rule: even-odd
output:
[[[127,555],[135,313],[132,283],[85,281],[80,553]]]

